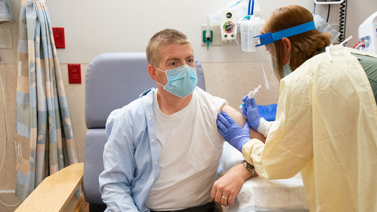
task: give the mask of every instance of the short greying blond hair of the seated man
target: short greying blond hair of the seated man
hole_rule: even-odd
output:
[[[147,60],[150,65],[159,65],[161,54],[159,49],[162,46],[168,46],[172,44],[184,45],[190,43],[189,38],[182,32],[175,29],[164,29],[154,34],[147,45],[146,53]],[[190,43],[191,45],[191,43]]]

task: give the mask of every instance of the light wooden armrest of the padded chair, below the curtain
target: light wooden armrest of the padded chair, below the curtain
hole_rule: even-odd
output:
[[[83,181],[84,163],[75,163],[46,177],[15,212],[60,212]]]

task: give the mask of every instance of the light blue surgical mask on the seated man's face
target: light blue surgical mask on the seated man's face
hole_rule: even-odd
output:
[[[157,69],[162,71],[159,68]],[[164,87],[164,90],[177,97],[189,96],[195,90],[196,83],[198,83],[196,68],[190,67],[189,65],[183,65],[162,72],[166,74],[167,84],[163,86],[161,83],[157,83]]]

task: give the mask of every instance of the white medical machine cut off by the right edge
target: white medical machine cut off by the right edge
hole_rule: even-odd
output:
[[[359,41],[365,43],[360,50],[377,54],[377,12],[359,26]]]

